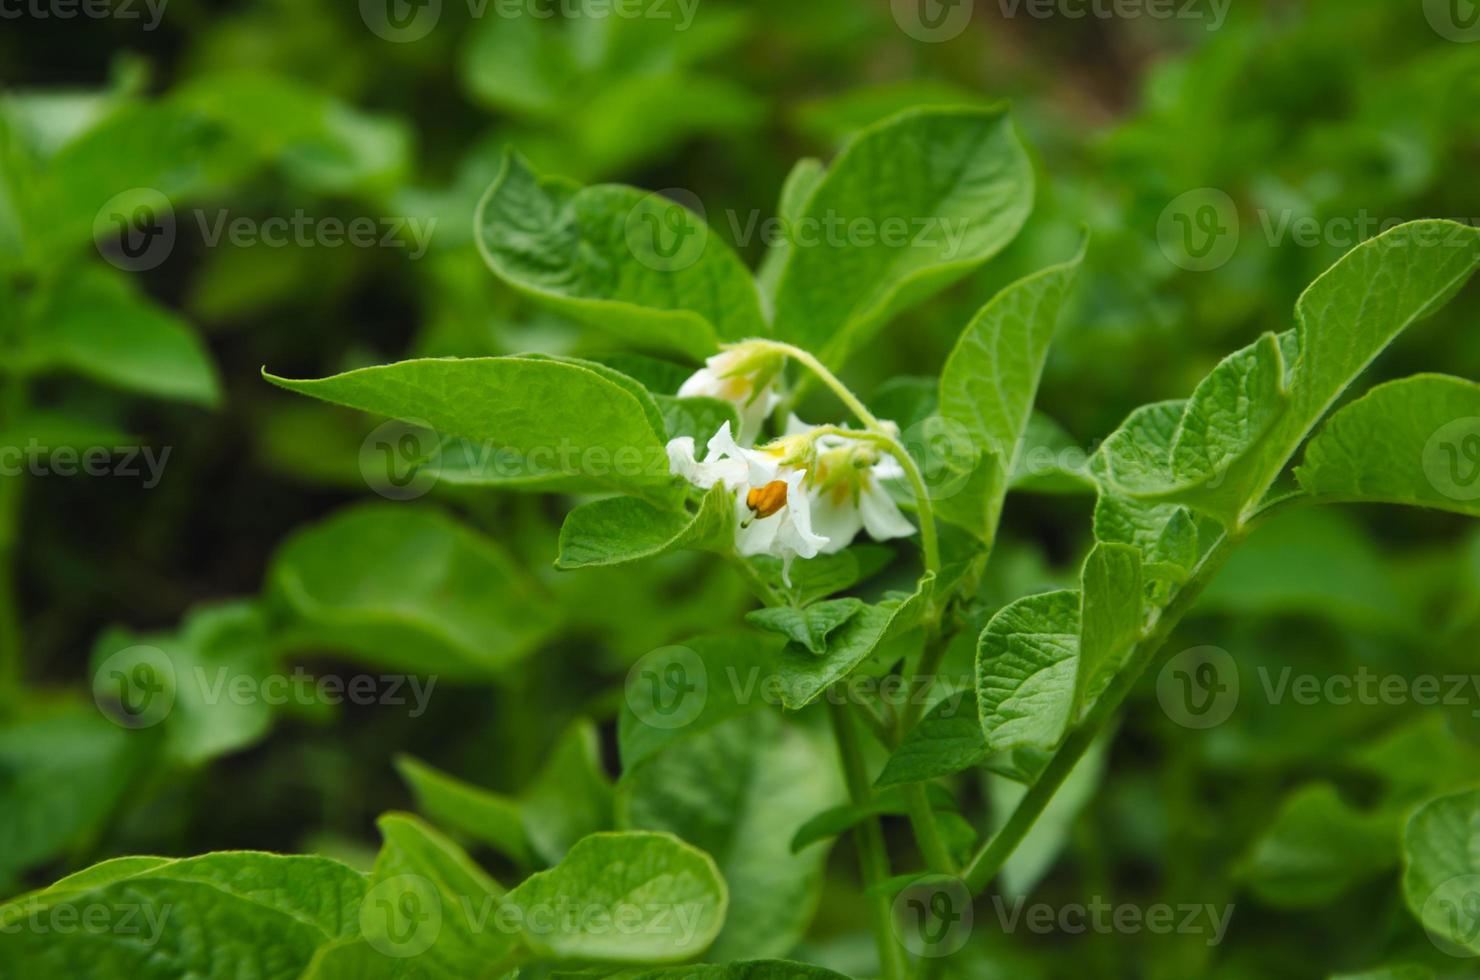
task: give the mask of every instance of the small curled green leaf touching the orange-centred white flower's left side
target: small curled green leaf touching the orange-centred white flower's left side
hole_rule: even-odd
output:
[[[734,537],[734,511],[736,497],[722,484],[710,489],[693,514],[665,511],[636,497],[583,503],[561,524],[555,567],[619,565],[684,548],[724,554]]]

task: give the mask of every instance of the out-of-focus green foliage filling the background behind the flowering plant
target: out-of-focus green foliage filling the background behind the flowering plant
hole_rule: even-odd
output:
[[[681,752],[610,785],[660,748],[620,737],[628,668],[656,647],[740,625],[753,603],[733,570],[681,552],[639,567],[556,571],[558,554],[601,564],[599,555],[562,552],[559,527],[576,494],[611,486],[519,472],[518,481],[570,496],[499,493],[477,472],[450,471],[414,503],[380,500],[361,475],[361,446],[379,420],[263,383],[259,369],[329,377],[403,358],[530,351],[604,360],[630,332],[589,326],[599,317],[579,293],[564,305],[533,302],[537,284],[518,281],[533,272],[511,243],[490,243],[475,226],[496,179],[508,185],[528,167],[577,185],[684,188],[703,203],[709,234],[753,268],[764,247],[746,232],[747,216],[773,213],[795,160],[829,160],[848,133],[898,110],[975,105],[986,120],[986,107],[1008,99],[1036,185],[1023,232],[887,329],[875,332],[882,324],[867,311],[842,311],[820,340],[850,335],[833,351],[841,361],[857,348],[845,377],[907,425],[921,386],[898,376],[938,375],[989,298],[1064,262],[1088,228],[1037,400],[1054,419],[1043,423],[1063,429],[1054,438],[1088,452],[1134,409],[1187,397],[1230,351],[1291,329],[1301,292],[1357,244],[1354,232],[1304,244],[1267,228],[1313,218],[1345,232],[1344,219],[1365,216],[1480,215],[1480,43],[1440,37],[1422,6],[1236,3],[1214,31],[1203,21],[1003,18],[998,4],[978,3],[971,28],[943,44],[913,40],[888,3],[866,0],[704,0],[687,31],[636,21],[601,37],[579,22],[468,18],[465,4],[447,3],[438,27],[407,44],[382,40],[355,4],[330,0],[223,9],[172,0],[154,31],[123,19],[7,21],[0,370],[12,388],[25,377],[28,407],[4,406],[0,444],[43,434],[53,446],[136,440],[170,454],[152,487],[142,478],[0,477],[0,579],[19,614],[19,628],[12,616],[4,629],[19,632],[25,650],[24,687],[6,688],[0,705],[0,891],[19,894],[121,854],[256,848],[369,869],[376,819],[388,810],[416,808],[511,884],[561,862],[588,832],[666,830],[704,848],[730,882],[731,924],[716,953],[792,955],[869,976],[851,848],[829,857],[814,845],[790,859],[793,832],[842,799],[815,714],[706,718],[710,727]],[[505,152],[511,145],[517,157]],[[104,201],[135,187],[170,195],[178,241],[155,268],[120,272],[93,249],[92,222]],[[1187,271],[1163,252],[1159,222],[1175,198],[1200,188],[1228,195],[1243,234],[1218,268]],[[833,192],[850,191],[857,188],[839,181]],[[517,204],[528,206],[533,191],[519,192]],[[586,206],[616,204],[592,195]],[[302,209],[437,224],[416,258],[416,247],[212,247],[185,216],[197,207],[212,221],[221,209],[255,219]],[[480,244],[509,249],[499,277]],[[999,247],[978,250],[986,258]],[[706,274],[724,283],[728,271]],[[872,286],[878,272],[855,275]],[[801,269],[774,289],[817,286]],[[1370,380],[1476,376],[1474,309],[1471,286],[1400,339]],[[749,333],[743,303],[702,311],[710,312],[716,336]],[[981,330],[990,343],[992,324]],[[644,346],[678,361],[691,354]],[[659,406],[593,369],[503,364],[514,386],[577,379],[610,391],[613,417],[592,423],[592,438],[675,431],[654,422]],[[647,361],[622,367],[665,391],[687,373]],[[946,415],[959,395],[949,379],[940,388]],[[1384,412],[1384,392],[1391,388],[1351,412],[1379,415],[1397,426],[1393,438],[1405,425],[1428,425]],[[1440,415],[1443,398],[1474,404],[1473,389],[1424,394]],[[826,412],[813,397],[817,415]],[[1018,409],[1015,426],[1027,423],[1027,406]],[[414,415],[450,425],[435,412]],[[582,420],[551,419],[561,431],[565,422]],[[613,426],[630,432],[617,437]],[[1366,431],[1359,425],[1348,440],[1333,431],[1307,459],[1304,486],[1342,494],[1344,468],[1372,452]],[[662,491],[641,481],[620,489]],[[1384,493],[1410,499],[1415,489]],[[1006,499],[975,626],[1024,595],[1079,585],[1092,502],[1083,493]],[[909,588],[903,564],[885,567],[869,597]],[[1473,675],[1477,595],[1480,537],[1464,517],[1365,505],[1301,511],[1234,555],[1171,650],[1230,651],[1246,688],[1286,668]],[[221,711],[182,700],[166,724],[133,733],[104,719],[89,687],[99,663],[139,642],[166,650],[176,671],[302,665],[346,677],[425,671],[438,682],[425,712]],[[690,645],[709,656],[704,642]],[[969,650],[947,657],[966,677],[969,663]],[[977,930],[977,955],[962,971],[1051,977],[1088,965],[1095,976],[1308,977],[1399,962],[1453,971],[1462,961],[1430,942],[1405,907],[1403,885],[1427,894],[1480,870],[1474,848],[1468,865],[1462,847],[1425,853],[1405,876],[1403,826],[1418,804],[1477,779],[1474,699],[1471,690],[1447,708],[1304,706],[1246,696],[1227,722],[1190,733],[1162,712],[1147,678],[1114,742],[1076,771],[1085,786],[1069,802],[1077,805],[1066,804],[1033,853],[1009,866],[1006,887],[1060,905],[1095,894],[1233,903],[1227,939],[1209,946],[1196,934],[1066,939],[989,927]],[[1026,748],[1043,737],[1020,734]],[[940,737],[952,737],[949,725]],[[962,751],[963,765],[975,761],[974,749]],[[956,782],[978,829],[1020,792],[980,770]],[[716,796],[673,786],[715,786]],[[571,788],[585,805],[558,796]],[[1409,833],[1424,819],[1462,822],[1474,807],[1458,799],[1424,810]],[[397,845],[413,866],[417,848],[437,851],[428,832],[394,820],[382,830],[404,835]],[[885,829],[907,853],[903,822],[891,816]],[[232,875],[209,865],[228,859],[203,860],[133,869],[139,881],[107,887],[170,896]],[[699,890],[704,870],[693,872]],[[456,875],[474,872],[447,873],[462,881]],[[287,881],[271,887],[290,888],[293,873],[308,872],[284,865],[271,873]],[[376,865],[376,873],[386,872]],[[459,887],[475,885],[484,887]],[[330,919],[324,909],[305,912],[295,921],[300,937],[265,919],[238,942],[262,930],[284,947],[311,949],[339,936]],[[315,962],[318,976],[355,976],[360,953],[345,944],[321,956],[339,958],[337,967]],[[494,953],[453,944],[447,955],[485,962]],[[133,968],[126,950],[118,956],[110,970]],[[33,962],[56,976],[68,970],[64,959]]]

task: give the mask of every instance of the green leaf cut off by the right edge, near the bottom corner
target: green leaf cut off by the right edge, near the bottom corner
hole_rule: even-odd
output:
[[[1480,791],[1440,796],[1419,808],[1403,832],[1403,896],[1440,949],[1480,953]]]

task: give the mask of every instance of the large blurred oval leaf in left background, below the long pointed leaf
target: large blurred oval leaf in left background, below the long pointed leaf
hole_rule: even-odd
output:
[[[555,626],[549,600],[494,542],[434,508],[371,503],[302,528],[268,589],[286,642],[422,675],[497,675]]]

